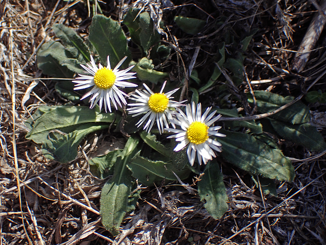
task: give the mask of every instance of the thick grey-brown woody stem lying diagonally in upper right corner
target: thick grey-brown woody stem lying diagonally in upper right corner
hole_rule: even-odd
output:
[[[322,11],[326,10],[326,0],[322,0],[320,2],[320,8]],[[299,46],[299,53],[297,53],[293,59],[291,70],[295,70],[298,73],[303,71],[309,60],[311,50],[314,48],[317,40],[319,39],[321,31],[324,29],[325,23],[326,18],[324,15],[320,14],[319,12],[316,13]]]

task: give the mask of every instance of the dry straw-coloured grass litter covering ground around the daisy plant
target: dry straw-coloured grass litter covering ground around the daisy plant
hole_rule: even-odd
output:
[[[216,12],[230,16],[227,22],[234,29],[261,28],[245,61],[249,82],[233,88],[234,94],[240,96],[243,91],[249,91],[248,84],[251,84],[253,90],[267,89],[297,96],[300,87],[314,81],[314,89],[325,91],[324,79],[320,77],[325,71],[322,41],[317,43],[302,73],[290,71],[295,50],[304,36],[300,30],[306,30],[317,11],[310,2],[296,1],[291,5],[288,1],[277,4],[243,1],[240,6],[232,5],[231,1],[214,2]],[[194,16],[189,17],[205,14],[213,6],[196,1],[181,5],[175,9],[179,13],[193,11]],[[87,35],[85,6],[87,9],[87,4],[80,1],[60,0],[0,3],[0,245],[139,244],[141,241],[147,244],[326,244],[325,156],[294,162],[295,180],[277,183],[278,197],[263,195],[248,174],[230,170],[228,164],[221,163],[230,208],[220,220],[210,217],[196,190],[185,184],[162,183],[158,188],[144,188],[135,212],[126,216],[122,233],[112,237],[102,227],[99,215],[100,191],[106,180],[92,175],[85,156],[94,152],[100,142],[114,146],[115,141],[104,140],[102,134],[87,138],[79,149],[79,157],[62,165],[44,158],[39,146],[24,139],[27,131],[24,121],[39,105],[65,103],[55,93],[51,80],[40,78],[35,54],[42,43],[54,38],[51,26],[55,23],[69,25]],[[115,19],[121,19],[120,9],[122,6],[114,6],[113,2],[103,8],[105,14]],[[163,15],[165,21],[168,17]],[[266,21],[271,23],[265,25]],[[170,28],[166,43],[173,48],[171,57],[177,57],[167,61],[175,65],[171,77],[180,80],[185,76],[184,71],[191,72],[194,64],[195,67],[207,65],[207,57],[214,55],[212,45],[218,43],[220,36],[211,35],[207,27],[200,38],[185,37],[176,42],[171,38],[177,35],[173,23],[166,24]],[[228,28],[225,26],[220,30],[222,33],[223,28]],[[194,57],[197,45],[202,45],[204,52]],[[192,60],[195,60],[193,65]],[[186,97],[186,89],[183,93]],[[311,109],[317,113],[316,118],[324,119],[320,112],[325,111],[325,105],[314,104]],[[320,127],[325,126],[322,124],[325,121],[319,121]],[[317,155],[289,142],[279,143],[290,157],[304,159]]]

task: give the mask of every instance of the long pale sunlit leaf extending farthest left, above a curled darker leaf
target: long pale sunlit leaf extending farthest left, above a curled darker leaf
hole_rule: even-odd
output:
[[[74,126],[82,123],[112,123],[118,115],[114,113],[100,113],[96,109],[90,109],[87,106],[56,106],[53,110],[44,113],[33,123],[33,129],[25,136],[26,139],[32,139],[35,143],[42,143],[48,138],[51,130],[60,129],[65,133],[68,126]]]

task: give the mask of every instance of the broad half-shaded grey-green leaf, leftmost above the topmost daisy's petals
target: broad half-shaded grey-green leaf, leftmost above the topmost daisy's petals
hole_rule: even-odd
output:
[[[37,67],[52,77],[72,78],[74,73],[84,73],[77,59],[67,57],[60,42],[44,43],[37,52]]]

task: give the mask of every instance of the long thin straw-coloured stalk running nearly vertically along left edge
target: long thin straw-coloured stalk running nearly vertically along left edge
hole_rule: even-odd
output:
[[[18,186],[18,199],[19,199],[19,206],[21,210],[21,215],[22,215],[22,227],[24,229],[26,238],[28,240],[28,243],[32,245],[32,241],[28,236],[28,233],[26,231],[26,227],[24,224],[24,215],[22,212],[22,192],[20,189],[20,179],[19,179],[19,168],[18,168],[18,157],[17,157],[17,148],[16,148],[16,84],[15,84],[15,73],[14,73],[14,57],[13,57],[13,50],[12,50],[12,39],[13,39],[13,34],[12,34],[12,29],[11,29],[11,23],[9,23],[9,35],[10,35],[10,58],[11,58],[11,109],[12,109],[12,150],[14,154],[14,163],[15,163],[15,171],[16,171],[16,181],[17,181],[17,186]]]

